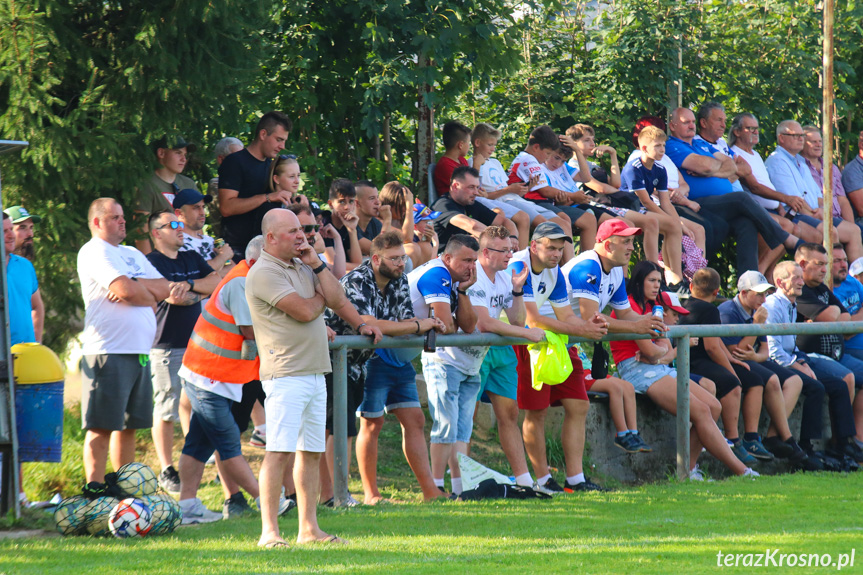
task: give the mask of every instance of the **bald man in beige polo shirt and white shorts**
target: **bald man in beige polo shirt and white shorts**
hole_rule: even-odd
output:
[[[287,545],[279,533],[278,505],[291,453],[297,454],[297,543],[342,543],[318,527],[315,503],[318,464],[326,450],[324,374],[331,371],[324,308],[335,311],[354,331],[374,337],[375,343],[381,332],[363,323],[338,280],[306,241],[293,212],[271,210],[261,228],[264,249],[246,278],[261,383],[267,394],[267,453],[259,481],[263,530],[258,545]]]

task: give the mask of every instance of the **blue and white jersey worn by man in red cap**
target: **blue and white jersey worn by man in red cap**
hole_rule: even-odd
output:
[[[578,300],[581,298],[597,302],[600,313],[609,304],[612,309],[629,309],[623,266],[605,273],[599,254],[595,251],[588,250],[566,262],[563,274],[572,299],[572,309],[579,317]]]

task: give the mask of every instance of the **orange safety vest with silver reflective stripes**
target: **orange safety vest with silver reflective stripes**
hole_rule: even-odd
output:
[[[258,379],[260,358],[241,359],[245,338],[233,316],[216,306],[216,298],[222,288],[232,279],[246,277],[248,273],[249,264],[246,260],[234,266],[216,286],[201,310],[183,356],[183,365],[193,373],[224,383],[242,384]]]

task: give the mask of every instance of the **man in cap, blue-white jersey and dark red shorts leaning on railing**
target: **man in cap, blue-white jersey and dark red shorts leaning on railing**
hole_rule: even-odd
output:
[[[564,246],[572,238],[553,222],[536,226],[530,246],[517,252],[509,264],[509,270],[520,274],[526,267],[530,274],[524,283],[524,307],[529,327],[538,327],[559,334],[599,339],[608,332],[608,320],[595,313],[583,315],[581,319],[569,305],[566,279],[558,264]],[[553,315],[542,315],[540,310],[546,302],[551,303]],[[518,359],[518,407],[525,411],[522,435],[527,455],[536,474],[536,489],[544,493],[562,493],[563,488],[549,472],[545,449],[545,415],[553,405],[564,409],[563,443],[567,477],[582,474],[584,454],[584,422],[587,417],[587,391],[584,388],[584,370],[578,356],[573,357],[573,371],[563,383],[543,385],[539,390],[531,385],[530,357],[527,346],[514,346]],[[592,485],[593,489],[598,486]]]

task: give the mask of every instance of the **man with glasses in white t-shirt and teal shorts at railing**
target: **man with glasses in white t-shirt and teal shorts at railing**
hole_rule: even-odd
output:
[[[479,259],[476,266],[476,283],[467,290],[477,316],[477,329],[482,333],[524,337],[533,342],[545,338],[538,328],[525,329],[524,282],[528,271],[507,271],[512,259],[512,244],[505,228],[491,226],[479,236]],[[509,323],[500,320],[506,312]],[[449,348],[448,348],[449,349]],[[457,348],[452,348],[456,351]],[[475,348],[476,349],[476,348]],[[524,442],[518,428],[518,360],[511,346],[492,346],[480,368],[481,387],[477,401],[483,394],[488,397],[497,419],[500,446],[506,455],[515,482],[533,486],[524,457]]]

